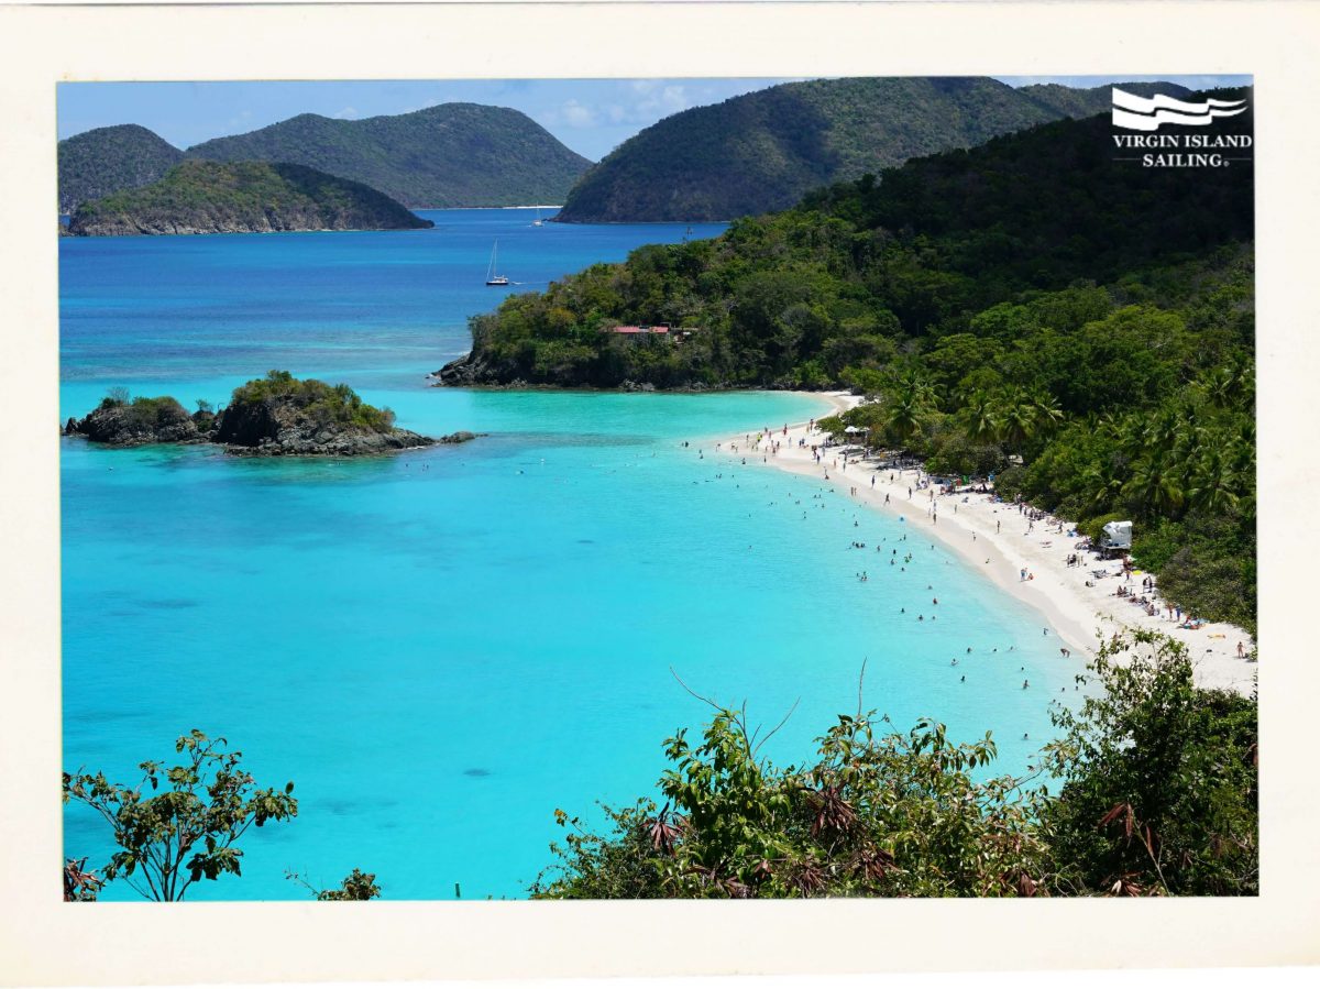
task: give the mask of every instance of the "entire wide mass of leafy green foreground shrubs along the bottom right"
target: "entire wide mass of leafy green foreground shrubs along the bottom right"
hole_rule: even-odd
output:
[[[1137,654],[1119,663],[1123,652]],[[1106,646],[1102,692],[1059,709],[1027,776],[956,743],[841,714],[807,766],[760,755],[746,710],[665,742],[655,799],[565,829],[537,898],[1250,895],[1258,891],[1255,702],[1199,691],[1185,650]]]

